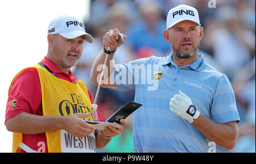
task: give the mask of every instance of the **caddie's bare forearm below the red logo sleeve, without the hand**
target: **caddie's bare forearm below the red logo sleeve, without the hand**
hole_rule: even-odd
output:
[[[62,122],[63,116],[42,116],[22,112],[7,120],[6,127],[12,132],[37,134],[60,130]]]

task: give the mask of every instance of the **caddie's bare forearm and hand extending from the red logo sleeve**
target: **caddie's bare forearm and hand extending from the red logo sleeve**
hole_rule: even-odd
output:
[[[8,119],[5,125],[8,131],[24,134],[65,130],[73,136],[83,137],[94,131],[92,125],[80,119],[89,115],[90,113],[69,116],[42,116],[22,112]]]

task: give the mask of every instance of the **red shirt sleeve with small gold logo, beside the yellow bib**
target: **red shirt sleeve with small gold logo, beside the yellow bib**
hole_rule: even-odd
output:
[[[7,100],[5,121],[21,112],[42,115],[41,85],[36,68],[27,68],[16,77]]]

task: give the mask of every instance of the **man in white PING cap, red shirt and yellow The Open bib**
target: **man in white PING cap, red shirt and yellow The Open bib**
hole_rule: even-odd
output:
[[[70,68],[80,59],[84,41],[92,43],[93,37],[80,19],[64,14],[49,23],[47,40],[46,57],[20,71],[10,85],[5,125],[13,132],[13,152],[96,152],[127,121],[103,131],[84,121],[101,116]]]

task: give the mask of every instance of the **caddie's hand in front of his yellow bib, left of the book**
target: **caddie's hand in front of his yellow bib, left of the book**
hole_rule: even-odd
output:
[[[84,137],[92,133],[94,126],[86,123],[81,118],[86,118],[90,113],[76,113],[64,116],[63,129],[75,137]]]

